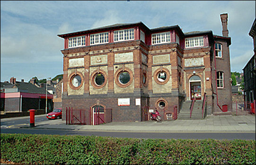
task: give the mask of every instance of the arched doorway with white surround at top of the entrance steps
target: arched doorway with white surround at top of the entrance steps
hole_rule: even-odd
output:
[[[198,75],[193,75],[189,78],[190,99],[202,99],[201,94],[201,79]]]

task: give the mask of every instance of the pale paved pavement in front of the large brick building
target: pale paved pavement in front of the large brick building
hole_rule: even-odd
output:
[[[39,116],[44,115],[35,115],[35,127],[23,124],[20,128],[97,132],[256,132],[255,115],[208,115],[205,119],[177,119],[162,122],[111,122],[100,125],[70,125],[62,119],[37,122],[36,118]],[[29,118],[29,116],[26,117]],[[1,122],[8,120],[13,120],[13,118],[1,119]]]

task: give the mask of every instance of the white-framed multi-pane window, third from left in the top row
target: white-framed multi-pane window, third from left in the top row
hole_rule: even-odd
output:
[[[114,41],[134,40],[134,29],[125,29],[114,31]]]

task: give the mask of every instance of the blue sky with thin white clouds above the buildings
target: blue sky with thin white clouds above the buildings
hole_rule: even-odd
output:
[[[243,72],[253,56],[248,35],[256,1],[0,1],[1,82],[15,77],[28,82],[63,74],[64,40],[58,34],[117,23],[147,27],[179,25],[183,33],[222,35],[220,15],[228,13],[231,72]]]

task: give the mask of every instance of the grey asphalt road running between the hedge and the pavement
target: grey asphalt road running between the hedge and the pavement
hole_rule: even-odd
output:
[[[48,120],[45,116],[36,116],[35,122]],[[20,128],[28,126],[29,118],[19,118],[1,122],[1,133],[29,133],[29,134],[56,134],[56,135],[81,135],[81,136],[109,136],[118,138],[140,138],[140,139],[216,139],[216,140],[255,140],[255,133],[247,132],[100,132],[85,130],[58,130]]]

